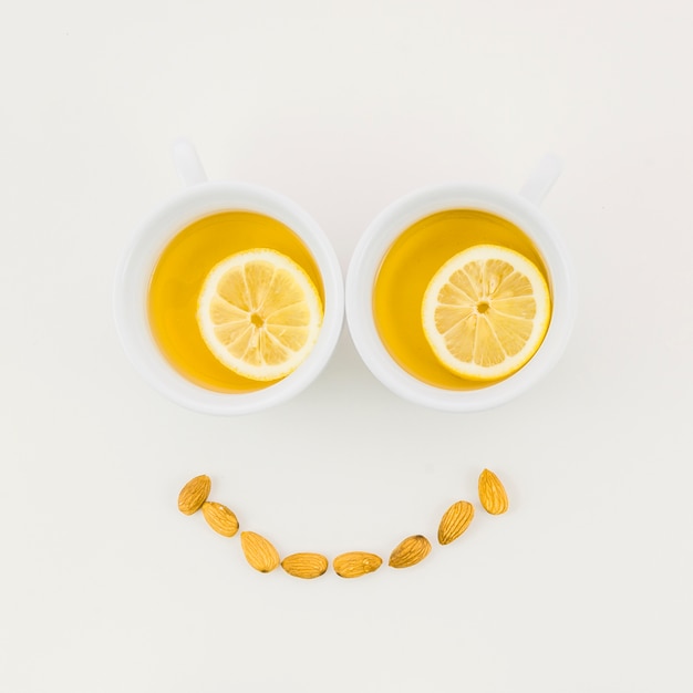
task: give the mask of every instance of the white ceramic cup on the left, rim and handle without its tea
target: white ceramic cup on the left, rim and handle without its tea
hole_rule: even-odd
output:
[[[330,360],[342,330],[343,278],[334,249],[318,224],[290,199],[252,185],[207,182],[197,153],[186,139],[174,144],[174,163],[186,189],[139,225],[116,271],[114,316],[123,348],[151,385],[190,410],[235,415],[286,402],[319,375]],[[318,266],[324,290],[322,327],[308,358],[283,380],[262,390],[238,394],[205,389],[175,370],[156,344],[147,317],[149,281],[164,248],[197,219],[235,210],[272,217],[297,234]]]

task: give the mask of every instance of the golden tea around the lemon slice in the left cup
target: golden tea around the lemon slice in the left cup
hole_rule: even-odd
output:
[[[194,221],[173,238],[152,273],[148,318],[154,339],[176,371],[208,390],[242,393],[272,384],[238,375],[220,363],[203,340],[196,317],[209,271],[228,256],[254,248],[291,258],[324,303],[320,270],[303,241],[277,219],[250,211],[221,211]]]

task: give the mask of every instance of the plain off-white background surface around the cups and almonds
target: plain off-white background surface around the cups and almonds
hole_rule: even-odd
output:
[[[8,3],[6,3],[8,4]],[[0,690],[687,692],[693,686],[693,12],[686,0],[85,0],[0,23]],[[179,183],[292,197],[345,270],[370,220],[449,179],[544,209],[580,312],[500,408],[408,404],[344,330],[294,401],[170,404],[127,362],[111,288]],[[511,509],[410,570],[255,572],[182,485],[282,555],[387,556],[476,499]]]

